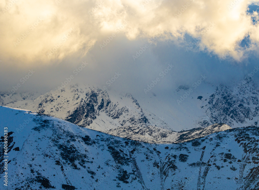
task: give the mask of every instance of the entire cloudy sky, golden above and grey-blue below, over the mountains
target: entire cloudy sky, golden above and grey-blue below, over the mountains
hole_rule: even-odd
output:
[[[81,82],[143,93],[157,78],[166,92],[201,75],[227,85],[258,65],[258,5],[0,0],[0,92]]]

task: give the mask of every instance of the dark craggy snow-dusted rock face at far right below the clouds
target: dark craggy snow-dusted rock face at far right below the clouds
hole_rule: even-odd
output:
[[[259,90],[250,79],[234,87],[220,85],[215,93],[207,98],[206,105],[202,106],[209,121],[200,124],[206,126],[207,123],[223,121],[229,126],[255,125],[259,115],[258,98]]]

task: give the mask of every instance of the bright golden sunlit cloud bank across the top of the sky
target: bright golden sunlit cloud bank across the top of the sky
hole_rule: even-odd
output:
[[[259,1],[254,1],[255,3]],[[247,14],[248,0],[0,0],[0,59],[44,64],[70,54],[85,55],[115,32],[130,40],[160,36],[184,42],[200,39],[200,50],[241,60],[256,50],[258,13]],[[125,24],[126,23],[126,24]],[[239,43],[250,36],[249,48]]]

